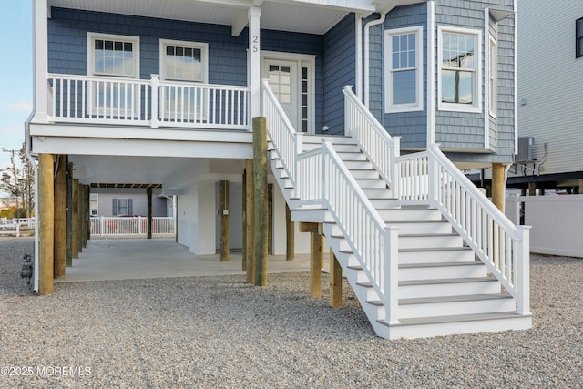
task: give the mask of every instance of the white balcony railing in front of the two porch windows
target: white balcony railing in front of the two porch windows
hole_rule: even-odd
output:
[[[249,130],[249,87],[51,74],[48,115],[61,123]]]

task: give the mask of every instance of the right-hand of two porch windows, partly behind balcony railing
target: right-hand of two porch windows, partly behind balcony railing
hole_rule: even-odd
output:
[[[205,120],[208,89],[190,83],[209,81],[209,54],[205,43],[160,39],[161,114],[175,120]],[[186,81],[186,82],[184,82]]]

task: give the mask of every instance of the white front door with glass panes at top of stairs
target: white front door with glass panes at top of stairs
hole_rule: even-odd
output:
[[[292,122],[301,131],[300,98],[298,95],[298,62],[282,59],[264,59],[261,77],[267,78],[271,90]]]

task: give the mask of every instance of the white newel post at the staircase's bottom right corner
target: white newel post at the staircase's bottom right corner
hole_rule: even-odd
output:
[[[522,235],[517,247],[517,313],[530,314],[530,226],[517,226]]]

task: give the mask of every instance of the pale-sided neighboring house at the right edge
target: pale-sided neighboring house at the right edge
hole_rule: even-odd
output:
[[[518,1],[518,134],[508,186],[583,193],[583,2]]]

